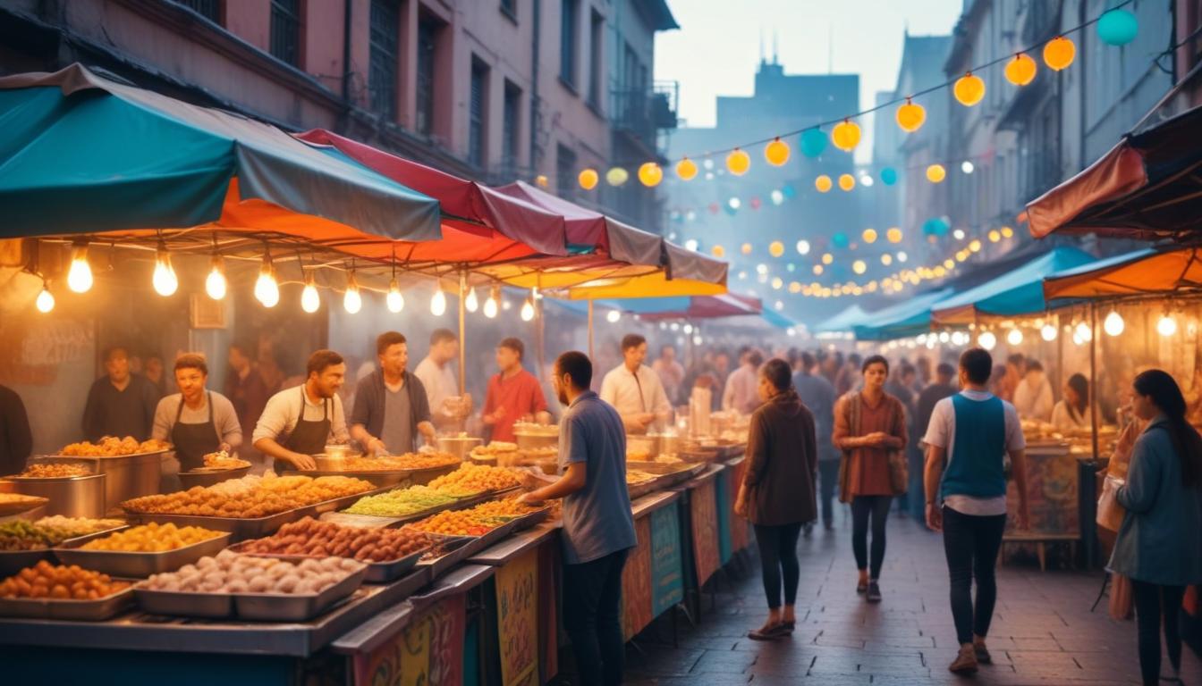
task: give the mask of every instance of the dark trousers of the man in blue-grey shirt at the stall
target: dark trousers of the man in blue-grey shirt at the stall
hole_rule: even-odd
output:
[[[621,684],[621,568],[629,550],[564,565],[564,628],[572,639],[581,684]]]

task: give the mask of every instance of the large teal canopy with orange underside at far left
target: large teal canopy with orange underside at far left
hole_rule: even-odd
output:
[[[279,225],[334,240],[441,234],[432,197],[274,126],[78,64],[0,77],[0,205],[11,237]]]

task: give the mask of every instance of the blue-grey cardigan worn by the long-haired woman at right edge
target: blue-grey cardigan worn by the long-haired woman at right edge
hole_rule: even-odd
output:
[[[1185,586],[1202,583],[1202,491],[1182,485],[1172,425],[1158,417],[1135,443],[1126,484],[1117,493],[1126,508],[1109,569],[1124,577]]]

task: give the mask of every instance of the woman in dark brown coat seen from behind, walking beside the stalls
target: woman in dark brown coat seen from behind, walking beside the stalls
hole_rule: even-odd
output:
[[[734,511],[755,525],[768,597],[768,621],[748,636],[770,640],[791,634],[797,622],[797,538],[802,525],[817,518],[814,484],[819,458],[814,414],[793,390],[789,363],[768,360],[760,370],[757,390],[763,404],[751,416],[748,469]]]

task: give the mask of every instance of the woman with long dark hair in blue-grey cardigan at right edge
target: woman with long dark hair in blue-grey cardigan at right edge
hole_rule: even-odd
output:
[[[1126,508],[1109,571],[1131,579],[1144,686],[1160,679],[1164,619],[1166,680],[1180,681],[1179,614],[1185,586],[1202,583],[1202,437],[1185,419],[1185,399],[1168,374],[1135,377],[1131,410],[1150,420],[1135,443],[1115,500]]]

